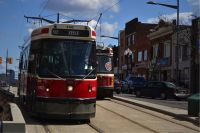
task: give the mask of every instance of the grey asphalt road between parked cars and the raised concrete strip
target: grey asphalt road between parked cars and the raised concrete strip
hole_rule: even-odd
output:
[[[150,102],[154,104],[159,104],[159,105],[164,105],[168,107],[174,107],[174,108],[180,108],[180,109],[185,109],[187,110],[188,108],[188,102],[186,100],[181,100],[177,101],[176,99],[166,99],[166,100],[161,100],[161,99],[152,99],[148,97],[142,97],[142,98],[137,98],[134,94],[114,94],[116,96],[120,97],[126,97],[126,98],[131,98],[131,99],[136,99],[140,101],[145,101],[145,102]]]

